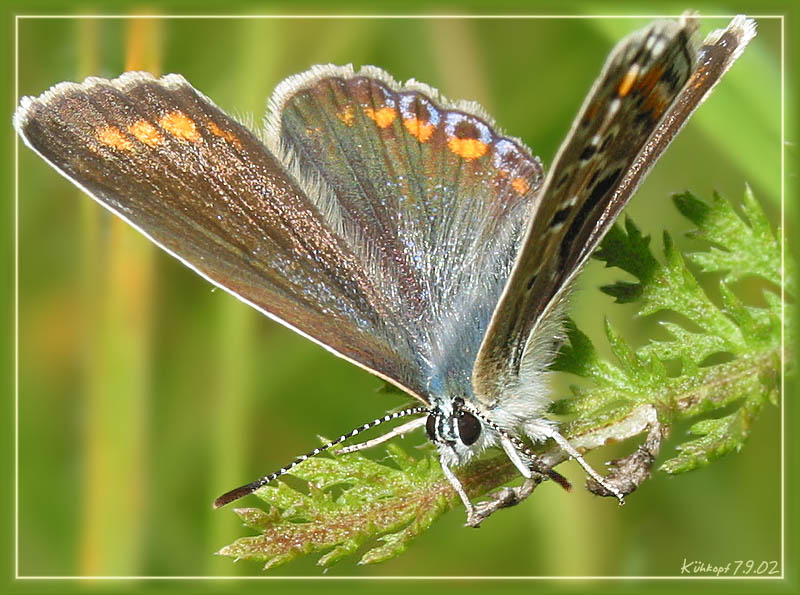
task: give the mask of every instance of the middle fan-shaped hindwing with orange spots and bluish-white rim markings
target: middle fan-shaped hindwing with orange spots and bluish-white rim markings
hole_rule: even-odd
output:
[[[440,380],[463,390],[541,183],[538,161],[474,106],[375,68],[317,67],[272,104],[285,160],[368,263],[420,374],[432,391]]]

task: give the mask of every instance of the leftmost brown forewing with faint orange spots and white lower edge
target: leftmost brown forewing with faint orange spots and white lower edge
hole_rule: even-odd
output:
[[[182,77],[129,73],[23,100],[25,142],[209,280],[420,394],[385,296],[286,168]]]

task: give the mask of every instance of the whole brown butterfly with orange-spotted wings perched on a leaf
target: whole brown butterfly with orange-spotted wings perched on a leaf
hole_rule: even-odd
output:
[[[403,431],[424,426],[477,525],[454,469],[488,448],[522,476],[566,487],[530,448],[552,439],[625,495],[548,419],[547,370],[576,275],[755,35],[743,16],[702,43],[697,28],[687,14],[620,41],[547,173],[477,104],[375,67],[288,78],[262,134],[183,77],[143,72],[24,97],[14,125],[59,173],[211,283],[420,402],[216,506],[415,416]]]

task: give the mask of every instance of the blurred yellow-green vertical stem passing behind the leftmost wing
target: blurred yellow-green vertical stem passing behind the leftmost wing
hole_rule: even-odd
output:
[[[77,21],[81,75],[96,74],[97,23]],[[125,25],[125,67],[157,73],[158,21]],[[84,205],[86,443],[80,574],[136,574],[145,493],[153,249],[95,204]],[[120,514],[119,511],[124,511]]]

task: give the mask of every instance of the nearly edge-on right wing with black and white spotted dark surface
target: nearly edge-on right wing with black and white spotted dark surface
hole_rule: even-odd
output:
[[[727,36],[710,36],[716,50],[707,44],[698,51],[694,18],[656,22],[612,51],[547,175],[492,316],[473,371],[479,397],[494,401],[524,356],[539,349],[532,342],[552,341],[538,337],[537,327],[550,330],[560,316],[570,281],[752,37],[751,23],[735,19]]]

